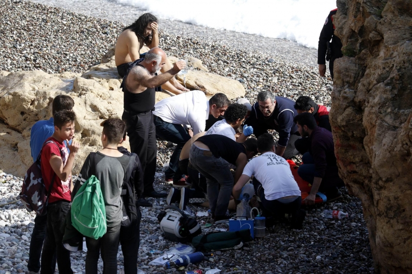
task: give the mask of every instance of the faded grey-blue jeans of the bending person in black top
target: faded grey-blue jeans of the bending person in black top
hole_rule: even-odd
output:
[[[222,157],[216,158],[210,151],[204,151],[195,145],[190,148],[190,163],[206,177],[207,198],[212,215],[225,215],[234,183],[229,163]]]

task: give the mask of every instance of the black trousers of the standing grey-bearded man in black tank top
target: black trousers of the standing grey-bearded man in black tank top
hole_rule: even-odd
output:
[[[139,156],[143,170],[143,194],[154,191],[153,182],[156,173],[156,127],[151,111],[132,115],[123,112],[122,120],[126,122],[130,151]]]

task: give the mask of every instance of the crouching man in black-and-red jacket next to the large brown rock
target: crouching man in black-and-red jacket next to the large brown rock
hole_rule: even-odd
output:
[[[301,96],[296,100],[294,108],[299,114],[303,112],[311,113],[319,127],[332,132],[331,123],[329,122],[329,107],[317,105],[309,96]],[[295,148],[302,155],[308,151],[309,147],[308,137],[302,137],[295,141]]]

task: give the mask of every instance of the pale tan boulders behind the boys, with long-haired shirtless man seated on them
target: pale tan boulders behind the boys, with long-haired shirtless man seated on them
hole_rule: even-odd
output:
[[[193,58],[191,62],[199,68],[202,66],[200,60]],[[204,72],[190,74],[201,73]],[[245,94],[238,81],[216,75],[213,77],[215,82],[221,82],[221,88],[210,85],[210,77],[206,76],[206,89],[203,91],[208,97],[216,92],[226,93],[230,99]],[[39,120],[49,119],[53,98],[58,94],[66,94],[75,101],[75,136],[82,145],[73,167],[74,173],[78,173],[87,155],[101,146],[100,123],[108,118],[122,116],[121,81],[114,64],[113,52],[108,52],[103,56],[101,64],[92,67],[83,75],[67,72],[47,74],[43,71],[0,71],[0,169],[18,176],[25,174],[32,164],[32,125]],[[240,85],[241,89],[237,85]],[[228,86],[236,89],[228,89]],[[167,91],[156,92],[156,101],[170,96],[173,94]],[[124,146],[129,147],[128,141]]]

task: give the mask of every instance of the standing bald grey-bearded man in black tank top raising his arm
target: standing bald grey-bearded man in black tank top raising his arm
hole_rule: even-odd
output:
[[[127,125],[130,150],[139,156],[143,170],[143,195],[146,197],[166,197],[153,188],[156,172],[156,128],[153,123],[155,92],[157,87],[173,78],[186,66],[184,61],[177,61],[169,71],[157,75],[166,63],[166,53],[158,47],[152,48],[144,60],[133,62],[123,79],[124,112],[122,120]],[[145,199],[139,199],[139,205],[151,206]]]

